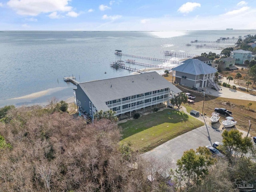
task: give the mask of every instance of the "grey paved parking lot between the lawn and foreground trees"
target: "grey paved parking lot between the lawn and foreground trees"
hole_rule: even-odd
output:
[[[199,146],[207,146],[216,141],[222,141],[222,131],[214,129],[208,125],[196,128],[190,132],[182,134],[164,144],[154,148],[153,150],[144,153],[146,159],[154,158],[159,164],[168,162],[167,170],[176,168],[176,162],[186,150],[198,148]]]

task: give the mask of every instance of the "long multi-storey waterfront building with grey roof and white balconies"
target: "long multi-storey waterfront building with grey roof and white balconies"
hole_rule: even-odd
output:
[[[113,110],[116,115],[157,104],[169,104],[171,94],[182,92],[157,72],[118,78],[96,80],[77,84],[75,103],[80,114],[94,119],[100,111]]]

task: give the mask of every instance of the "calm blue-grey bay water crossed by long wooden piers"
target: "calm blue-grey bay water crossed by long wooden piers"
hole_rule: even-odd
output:
[[[78,82],[86,82],[132,74],[128,70],[111,68],[110,63],[117,60],[134,59],[172,66],[169,62],[117,56],[115,50],[136,56],[178,60],[164,56],[164,51],[219,54],[222,49],[197,49],[185,44],[192,40],[216,41],[220,37],[237,38],[248,34],[254,35],[256,30],[0,32],[0,107],[44,105],[54,96],[67,100],[73,96],[76,86],[64,82],[65,76],[75,76]]]

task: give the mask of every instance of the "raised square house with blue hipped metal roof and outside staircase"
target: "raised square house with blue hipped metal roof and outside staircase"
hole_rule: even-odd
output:
[[[214,83],[215,73],[218,71],[198,59],[188,59],[172,70],[175,82],[188,87],[204,88],[214,86],[220,90],[220,86]]]

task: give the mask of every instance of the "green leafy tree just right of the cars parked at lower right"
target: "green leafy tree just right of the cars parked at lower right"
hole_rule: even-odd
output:
[[[234,165],[236,156],[244,156],[249,151],[253,151],[251,139],[249,137],[243,138],[242,133],[237,129],[232,129],[230,131],[224,130],[222,137],[222,142],[225,148],[224,151],[227,151],[226,156],[232,165]]]

